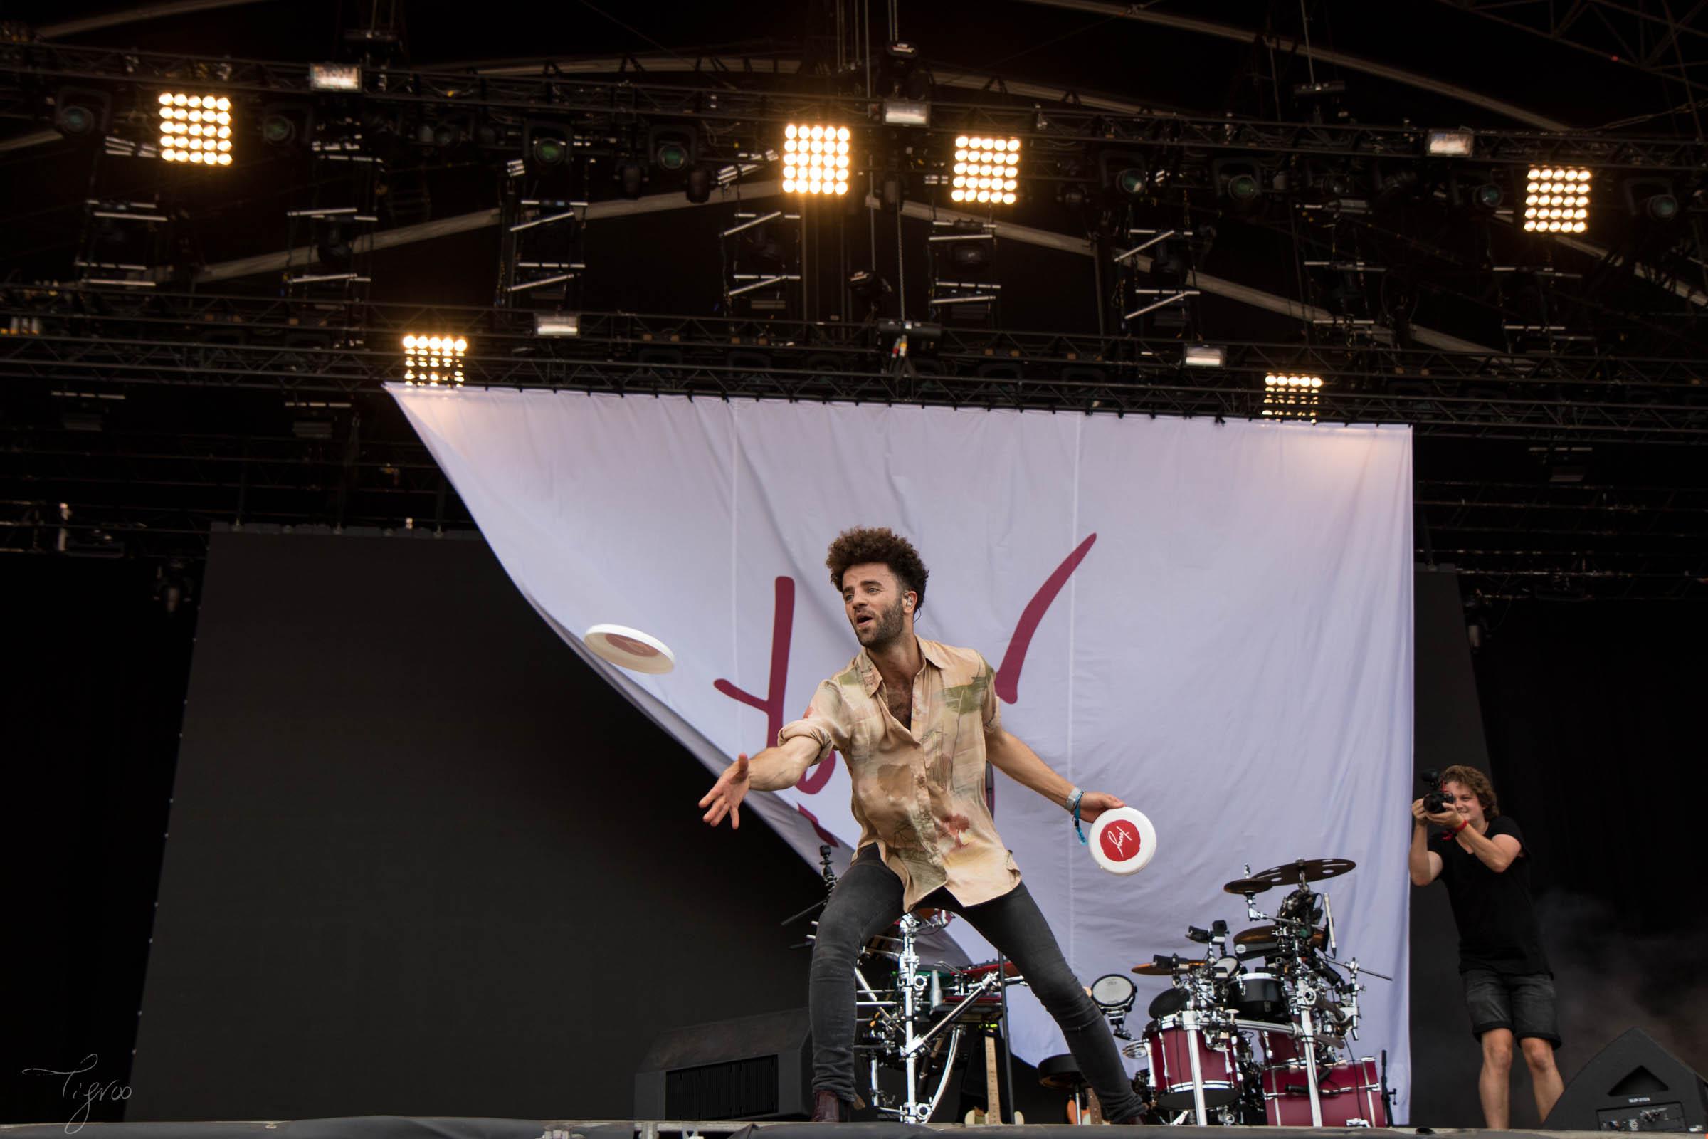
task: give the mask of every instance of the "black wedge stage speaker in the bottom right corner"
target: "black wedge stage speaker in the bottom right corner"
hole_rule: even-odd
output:
[[[1708,1084],[1641,1028],[1609,1043],[1566,1084],[1549,1130],[1703,1130]]]

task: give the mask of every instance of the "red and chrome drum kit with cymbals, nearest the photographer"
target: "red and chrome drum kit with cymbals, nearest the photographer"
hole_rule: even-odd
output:
[[[1100,977],[1091,999],[1122,1048],[1144,1059],[1134,1088],[1158,1124],[1269,1124],[1276,1127],[1387,1127],[1385,1079],[1370,1059],[1342,1057],[1358,1038],[1358,960],[1336,958],[1329,897],[1310,883],[1353,869],[1348,859],[1300,859],[1223,886],[1243,895],[1237,934],[1225,920],[1187,927],[1192,956],[1156,955],[1136,965],[1170,987],[1149,1004],[1139,1038],[1127,1030],[1136,985]],[[1274,914],[1257,895],[1291,886]],[[1390,980],[1383,977],[1383,980]]]

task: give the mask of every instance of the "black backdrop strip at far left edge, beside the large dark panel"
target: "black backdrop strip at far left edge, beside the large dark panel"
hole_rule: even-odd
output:
[[[140,562],[0,558],[9,1122],[125,1107],[87,1089],[130,1071],[195,630],[155,586]]]

